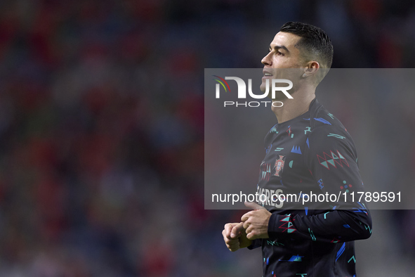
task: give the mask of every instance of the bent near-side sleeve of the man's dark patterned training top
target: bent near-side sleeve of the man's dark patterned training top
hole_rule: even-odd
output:
[[[317,127],[308,136],[304,162],[316,182],[316,193],[341,195],[322,210],[273,213],[268,236],[290,236],[327,243],[360,240],[371,236],[371,216],[364,202],[364,191],[353,140],[345,130]],[[354,201],[350,193],[355,193]],[[345,198],[344,195],[347,195]],[[317,203],[321,205],[322,203]]]

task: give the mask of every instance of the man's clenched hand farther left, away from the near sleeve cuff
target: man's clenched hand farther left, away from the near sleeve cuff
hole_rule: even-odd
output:
[[[222,231],[223,240],[225,240],[226,247],[232,252],[239,248],[248,247],[252,244],[252,240],[246,238],[244,229],[244,222],[228,223]]]

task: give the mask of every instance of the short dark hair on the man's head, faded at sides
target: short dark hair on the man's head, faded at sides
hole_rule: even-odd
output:
[[[305,50],[305,56],[315,58],[317,62],[322,63],[322,67],[331,67],[333,45],[326,32],[319,27],[301,22],[286,22],[279,32],[296,34],[301,37],[296,47]]]

